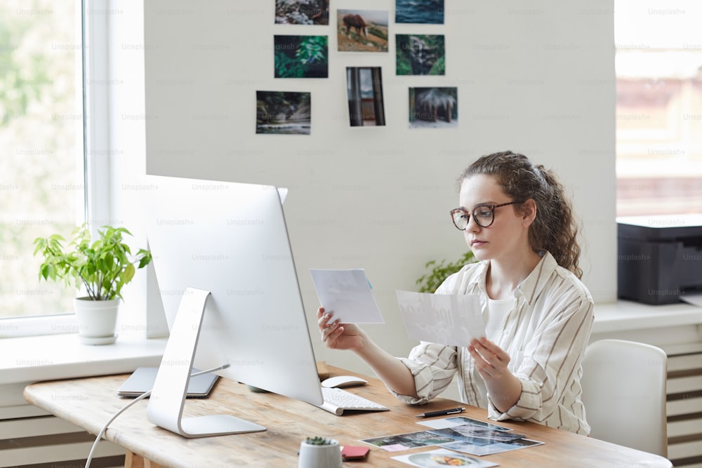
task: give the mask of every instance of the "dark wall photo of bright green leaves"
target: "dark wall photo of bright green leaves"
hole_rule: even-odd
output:
[[[327,36],[273,36],[275,78],[327,78]]]

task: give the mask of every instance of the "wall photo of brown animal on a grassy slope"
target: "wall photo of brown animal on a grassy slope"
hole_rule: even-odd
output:
[[[337,10],[336,36],[340,52],[388,52],[388,12]]]

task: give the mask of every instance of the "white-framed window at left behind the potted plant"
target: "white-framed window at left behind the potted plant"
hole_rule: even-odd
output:
[[[91,28],[100,15],[88,4],[102,3],[0,3],[0,337],[71,331],[75,290],[39,281],[34,239],[107,213],[91,190],[107,184],[86,184],[107,176],[107,159],[84,149],[106,139],[105,99],[90,85],[105,75],[105,60],[91,58],[104,58],[107,32]]]

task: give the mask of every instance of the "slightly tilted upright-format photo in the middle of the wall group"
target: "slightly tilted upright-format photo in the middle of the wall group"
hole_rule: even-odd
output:
[[[346,67],[346,88],[350,126],[385,125],[380,67]]]

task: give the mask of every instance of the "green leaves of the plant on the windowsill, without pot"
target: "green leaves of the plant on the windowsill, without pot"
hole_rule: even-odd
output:
[[[65,281],[77,289],[85,286],[91,300],[122,299],[122,287],[152,260],[150,250],[143,248],[132,256],[124,234],[132,235],[124,227],[103,226],[93,242],[87,225],[82,225],[73,230],[67,246],[59,234],[37,237],[34,255],[44,258],[39,279]]]

